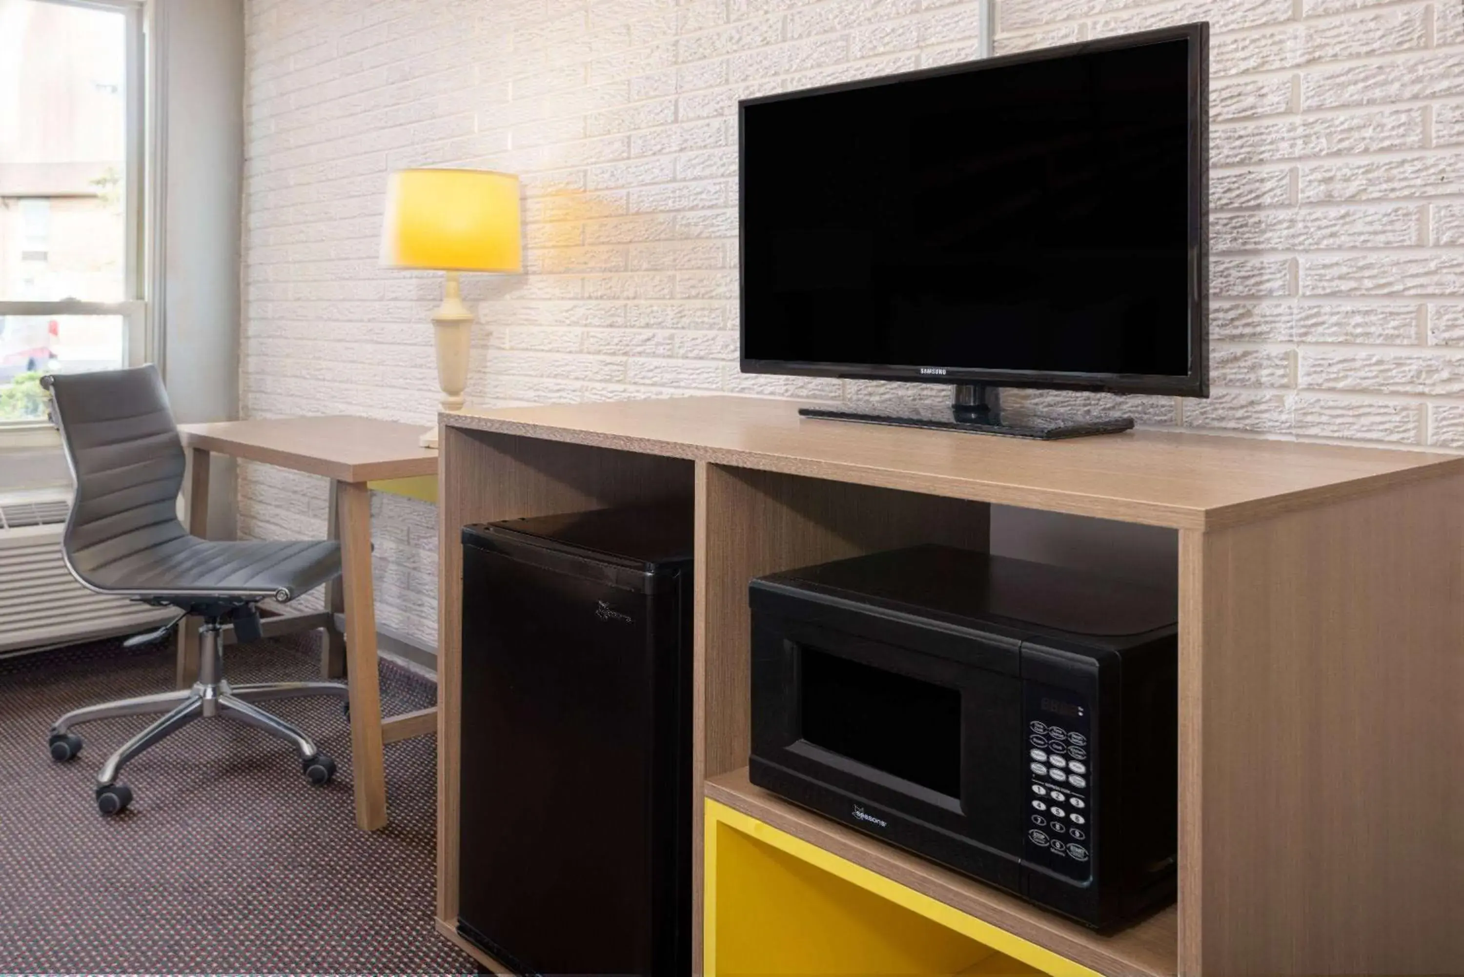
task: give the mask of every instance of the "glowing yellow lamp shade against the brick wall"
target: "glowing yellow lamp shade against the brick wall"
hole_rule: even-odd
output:
[[[518,177],[489,170],[400,170],[386,186],[381,264],[521,271]]]

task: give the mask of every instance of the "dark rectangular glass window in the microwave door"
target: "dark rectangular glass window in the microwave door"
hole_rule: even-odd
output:
[[[802,738],[960,797],[960,691],[799,646]]]

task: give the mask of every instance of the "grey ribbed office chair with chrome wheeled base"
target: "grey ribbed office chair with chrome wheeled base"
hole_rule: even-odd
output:
[[[240,642],[259,640],[259,601],[287,602],[341,573],[335,542],[214,542],[190,536],[177,517],[184,457],[167,393],[154,366],[45,376],[51,410],[76,480],[61,551],[72,576],[97,593],[179,609],[163,628],[130,639],[161,640],[187,615],[203,618],[199,674],[192,688],[122,699],[69,712],[51,727],[51,757],[82,747],[72,727],[92,719],[167,713],[127,740],[97,775],[97,807],[116,814],[132,803],[120,784],[135,756],[199,716],[227,716],[285,740],[305,775],[328,784],[335,762],[307,735],[255,703],[300,696],[346,699],[341,683],[230,686],[223,674],[223,628]]]

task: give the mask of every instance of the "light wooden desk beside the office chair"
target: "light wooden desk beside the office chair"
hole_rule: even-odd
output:
[[[343,671],[351,694],[351,778],[356,823],[375,831],[386,823],[382,746],[435,731],[435,709],[382,719],[376,678],[376,609],[370,571],[370,491],[367,482],[435,475],[438,453],[417,445],[417,425],[370,417],[285,417],[180,425],[189,453],[189,532],[208,529],[209,454],[264,461],[331,480],[329,539],[341,540],[341,577],[325,586],[326,611],[291,621],[266,618],[266,634],[324,627],[321,672]],[[203,504],[196,504],[196,501]],[[344,636],[337,621],[344,614]],[[344,637],[344,640],[343,640]],[[343,647],[344,644],[344,647]],[[347,662],[348,658],[348,662]],[[198,674],[198,628],[179,630],[179,686]]]

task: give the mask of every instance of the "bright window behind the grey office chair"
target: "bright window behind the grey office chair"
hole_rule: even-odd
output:
[[[0,431],[145,356],[141,0],[0,0]]]

